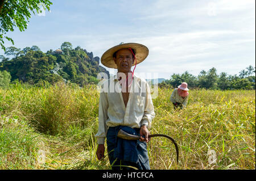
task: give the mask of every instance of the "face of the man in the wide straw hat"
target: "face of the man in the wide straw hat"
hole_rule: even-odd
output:
[[[118,50],[114,61],[117,64],[118,72],[129,73],[134,62],[133,53],[129,49]]]

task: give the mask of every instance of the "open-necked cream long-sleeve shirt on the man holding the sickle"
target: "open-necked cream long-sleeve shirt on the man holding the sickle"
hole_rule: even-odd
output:
[[[129,100],[125,107],[122,86],[115,75],[114,78],[102,84],[98,109],[98,132],[95,137],[98,144],[104,144],[108,127],[118,125],[140,128],[142,124],[146,124],[150,129],[154,117],[154,106],[148,83],[134,75]]]

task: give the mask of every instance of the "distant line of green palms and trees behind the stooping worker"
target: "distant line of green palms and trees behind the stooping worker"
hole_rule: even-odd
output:
[[[255,90],[255,67],[249,66],[240,71],[239,75],[228,75],[225,72],[217,75],[217,70],[212,68],[202,70],[195,76],[185,71],[183,74],[172,74],[171,78],[160,83],[159,86],[177,87],[181,82],[187,82],[189,88],[237,90]]]

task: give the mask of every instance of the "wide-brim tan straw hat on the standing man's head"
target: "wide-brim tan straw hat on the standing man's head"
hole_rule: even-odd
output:
[[[115,64],[113,54],[121,49],[132,48],[135,50],[135,57],[137,59],[137,64],[141,63],[148,56],[148,48],[145,45],[138,43],[122,43],[116,45],[108,50],[101,56],[101,64],[105,65],[108,68],[117,69]],[[134,61],[133,66],[136,64]]]

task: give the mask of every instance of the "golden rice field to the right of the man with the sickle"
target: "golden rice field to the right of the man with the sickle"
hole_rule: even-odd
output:
[[[175,165],[171,143],[152,141],[155,169],[255,169],[255,91],[190,91],[188,107],[180,111],[168,101],[171,90],[159,92],[152,133],[175,138],[180,162]],[[216,152],[212,164],[209,150]]]

